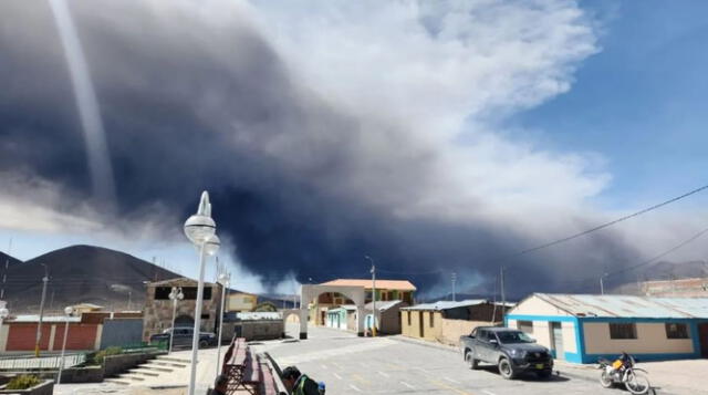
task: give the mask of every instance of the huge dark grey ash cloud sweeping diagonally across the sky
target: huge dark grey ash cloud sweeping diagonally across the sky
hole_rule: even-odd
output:
[[[143,3],[71,4],[107,132],[112,215],[159,205],[179,227],[207,189],[220,232],[270,284],[290,270],[302,282],[365,277],[369,254],[382,277],[440,270],[410,277],[429,292],[452,271],[469,291],[490,291],[497,258],[534,242],[509,224],[397,214],[436,188],[439,153],[303,84],[252,9],[210,19]],[[50,180],[101,209],[51,12],[3,3],[0,25],[0,170]],[[559,290],[571,273],[636,256],[612,231],[592,236],[506,262],[509,293]]]

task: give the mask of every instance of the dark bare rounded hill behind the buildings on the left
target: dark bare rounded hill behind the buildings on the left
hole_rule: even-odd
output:
[[[42,278],[49,272],[46,311],[81,302],[106,309],[142,309],[145,281],[180,277],[131,254],[93,246],[62,248],[8,269],[6,301],[14,314],[38,313]]]

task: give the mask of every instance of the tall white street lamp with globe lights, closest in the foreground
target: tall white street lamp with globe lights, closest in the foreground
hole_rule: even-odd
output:
[[[201,193],[197,214],[185,221],[185,235],[199,249],[199,283],[197,285],[197,306],[195,309],[195,330],[191,339],[191,372],[189,373],[189,389],[187,394],[195,395],[197,380],[197,354],[199,352],[199,334],[201,328],[201,302],[204,299],[204,267],[207,256],[214,256],[219,250],[219,238],[216,236],[217,225],[211,219],[211,204],[209,194]]]

